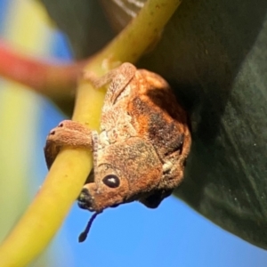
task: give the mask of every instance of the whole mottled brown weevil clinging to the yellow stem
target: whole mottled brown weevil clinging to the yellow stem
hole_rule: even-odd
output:
[[[166,81],[148,70],[124,63],[93,83],[110,80],[100,134],[61,122],[47,137],[47,166],[61,146],[87,148],[93,151],[94,174],[79,206],[97,213],[134,200],[157,207],[182,182],[191,142],[186,112]]]

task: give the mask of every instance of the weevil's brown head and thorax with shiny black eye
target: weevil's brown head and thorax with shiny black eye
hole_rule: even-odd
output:
[[[134,137],[102,150],[94,166],[93,182],[86,183],[78,205],[101,212],[142,199],[157,189],[162,164],[152,145]]]

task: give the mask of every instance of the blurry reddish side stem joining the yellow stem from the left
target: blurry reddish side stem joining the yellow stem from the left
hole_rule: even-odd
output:
[[[70,95],[85,63],[45,63],[12,51],[0,40],[0,76],[27,85],[53,100]]]

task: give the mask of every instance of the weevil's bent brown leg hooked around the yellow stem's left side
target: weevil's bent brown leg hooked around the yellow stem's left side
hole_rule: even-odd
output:
[[[52,166],[63,146],[93,150],[93,141],[97,140],[95,136],[97,133],[89,130],[85,125],[72,120],[63,120],[50,131],[46,138],[44,156],[47,167]]]

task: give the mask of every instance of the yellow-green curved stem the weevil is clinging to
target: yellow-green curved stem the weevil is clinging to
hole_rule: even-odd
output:
[[[85,70],[101,76],[117,61],[135,62],[165,27],[180,0],[149,0],[139,15]],[[91,129],[100,125],[104,92],[81,79],[73,119]],[[56,158],[33,203],[0,247],[0,266],[24,266],[36,257],[53,238],[77,198],[92,168],[89,151],[64,149]]]

